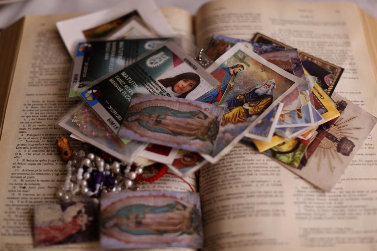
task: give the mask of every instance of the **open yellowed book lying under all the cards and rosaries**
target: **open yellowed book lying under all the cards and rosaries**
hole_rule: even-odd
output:
[[[213,34],[250,40],[261,32],[340,65],[345,71],[335,91],[377,116],[377,21],[352,3],[216,1],[195,18],[181,9],[161,11],[199,47]],[[68,134],[54,123],[74,104],[66,100],[72,60],[55,23],[70,17],[26,16],[1,33],[0,250],[33,249],[33,205],[56,201],[64,181],[55,138]],[[198,190],[204,250],[376,250],[376,138],[374,129],[328,193],[243,145],[203,167],[198,183],[166,175],[141,189]],[[93,242],[49,250],[99,248]]]

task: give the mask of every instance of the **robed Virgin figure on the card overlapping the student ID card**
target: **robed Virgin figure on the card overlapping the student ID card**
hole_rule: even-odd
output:
[[[149,106],[137,113],[130,113],[123,123],[134,121],[152,132],[194,137],[202,141],[213,142],[219,131],[217,117],[208,117],[199,110],[178,111],[166,106]]]

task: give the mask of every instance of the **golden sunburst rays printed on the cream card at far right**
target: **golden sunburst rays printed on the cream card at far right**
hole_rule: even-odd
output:
[[[353,131],[358,131],[363,128],[349,127],[349,123],[356,118],[357,116],[352,116],[344,120],[344,117],[339,116],[336,122],[333,125],[331,125],[329,129],[326,130],[326,132],[328,132],[336,138],[336,141],[333,141],[327,137],[323,137],[317,149],[314,151],[313,154],[318,159],[317,172],[319,172],[320,170],[322,159],[325,162],[327,161],[329,170],[332,174],[334,173],[334,169],[332,166],[333,160],[338,160],[341,164],[343,164],[343,160],[340,157],[341,153],[339,152],[339,150],[337,151],[339,141],[342,138],[352,138],[354,140],[359,140],[359,138],[352,136]],[[312,137],[311,142],[315,140],[315,138],[316,137]]]

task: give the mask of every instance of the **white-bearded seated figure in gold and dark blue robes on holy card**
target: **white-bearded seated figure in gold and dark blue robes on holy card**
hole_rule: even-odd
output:
[[[274,88],[275,82],[269,80],[257,85],[248,93],[227,100],[230,111],[222,116],[221,125],[224,126],[228,123],[237,125],[247,121],[249,117],[256,119],[271,105]]]

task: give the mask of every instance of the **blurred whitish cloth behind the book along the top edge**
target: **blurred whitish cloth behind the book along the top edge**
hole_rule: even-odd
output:
[[[0,29],[4,29],[24,15],[93,12],[110,8],[127,0],[24,0],[0,5]],[[142,0],[141,0],[142,1]],[[199,7],[210,0],[155,0],[158,6],[173,6],[195,14]],[[318,0],[303,0],[318,1]],[[326,1],[326,0],[321,0]],[[328,0],[336,1],[336,0]],[[0,3],[2,1],[0,0]],[[341,1],[339,1],[341,2]],[[377,0],[353,0],[360,8],[377,18]],[[339,3],[342,4],[342,3]]]

